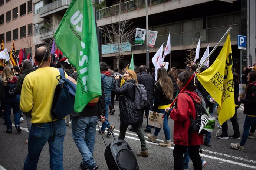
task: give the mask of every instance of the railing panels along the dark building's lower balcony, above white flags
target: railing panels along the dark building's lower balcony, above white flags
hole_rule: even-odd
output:
[[[184,48],[184,46],[190,46],[190,45],[193,45],[193,43],[194,45],[196,45],[200,37],[201,37],[201,44],[211,43],[211,42],[216,43],[220,40],[221,37],[223,37],[223,35],[226,33],[229,27],[232,27],[232,29],[230,30],[230,40],[237,41],[237,35],[239,35],[240,33],[240,24],[207,28],[202,30],[194,30],[194,31],[183,32],[183,33],[173,33],[171,34],[171,47],[181,46],[182,48]],[[168,35],[169,34],[157,35],[154,48],[156,49],[160,48],[164,42],[167,42]],[[134,38],[135,38],[135,35],[134,35]],[[131,44],[131,51],[146,49],[146,43],[144,43],[143,46],[134,45],[134,40],[129,41],[129,43]],[[107,45],[107,44],[102,44],[102,45]],[[210,44],[210,46],[213,46],[213,45],[216,45],[216,44]]]

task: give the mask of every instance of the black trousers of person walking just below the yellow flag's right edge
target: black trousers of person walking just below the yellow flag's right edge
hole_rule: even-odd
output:
[[[234,136],[236,136],[236,137],[240,137],[239,125],[238,125],[238,122],[237,122],[237,119],[236,119],[238,108],[239,108],[239,106],[235,108],[235,114],[232,118],[230,118],[230,121],[231,121],[232,126],[233,126],[233,130],[234,130]],[[227,129],[228,129],[228,126],[227,126],[227,121],[226,121],[222,124],[222,135],[228,136]]]

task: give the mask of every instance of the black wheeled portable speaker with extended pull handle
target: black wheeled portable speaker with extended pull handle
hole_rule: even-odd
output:
[[[99,127],[99,123],[98,123],[99,121],[101,120],[100,119],[96,120],[98,127]],[[106,119],[106,121],[108,121],[108,119]],[[101,128],[99,127],[99,129]],[[112,132],[112,129],[111,129],[111,132]],[[106,141],[101,132],[102,139],[106,145],[104,156],[105,156],[106,164],[108,165],[108,169],[109,170],[138,170],[139,165],[138,165],[137,159],[134,156],[134,153],[132,152],[132,149],[129,146],[129,144],[125,140],[120,140],[120,139],[116,140],[113,132],[112,132],[112,135],[114,137],[114,141],[109,143],[109,145],[107,146]]]

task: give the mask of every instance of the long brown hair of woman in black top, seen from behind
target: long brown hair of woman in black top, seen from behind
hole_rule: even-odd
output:
[[[171,100],[173,98],[173,81],[171,81],[171,78],[163,67],[157,70],[157,82],[160,83],[165,97]]]

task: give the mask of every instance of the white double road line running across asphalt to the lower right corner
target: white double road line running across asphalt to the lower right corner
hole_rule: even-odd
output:
[[[96,128],[96,130],[99,130],[99,129]],[[114,131],[120,132],[120,130],[117,130],[117,129],[114,129]],[[130,132],[126,132],[126,134],[127,135],[137,136],[137,134],[130,133]],[[119,133],[114,133],[114,135],[118,136]],[[138,139],[137,137],[127,136],[127,135],[125,137],[127,137],[129,139],[140,141],[140,139]],[[148,137],[146,137],[146,136],[144,136],[144,137],[148,139]],[[163,142],[163,140],[158,140],[158,141]],[[158,143],[150,142],[150,141],[147,141],[147,140],[146,140],[146,142],[150,143],[152,145],[158,145]],[[167,147],[167,148],[174,149],[174,147]],[[205,149],[203,149],[203,151],[211,153],[211,154],[217,154],[218,156],[224,156],[224,157],[228,157],[228,158],[232,158],[232,159],[242,160],[242,161],[245,161],[245,162],[256,163],[256,161],[254,161],[254,160],[244,159],[242,157],[236,157],[236,156],[232,156],[232,155],[228,155],[228,154],[223,154],[223,153],[218,153],[218,152],[213,152],[213,151],[205,150]],[[236,164],[236,165],[239,165],[239,166],[249,167],[249,168],[256,169],[256,166],[251,166],[251,165],[247,165],[247,164],[243,164],[243,163],[239,163],[239,162],[234,162],[234,161],[231,161],[231,160],[222,159],[222,158],[218,158],[218,157],[214,157],[214,156],[209,156],[209,155],[201,154],[201,153],[200,153],[200,155],[203,156],[203,157],[208,157],[210,159],[215,159],[215,160],[219,160],[219,161],[222,161],[222,162],[232,163],[232,164]]]

